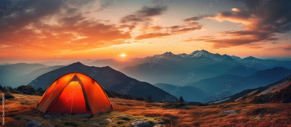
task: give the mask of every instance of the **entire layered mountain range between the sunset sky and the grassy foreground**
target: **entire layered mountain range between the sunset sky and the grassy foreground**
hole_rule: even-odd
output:
[[[230,87],[223,97],[246,89],[266,86],[291,73],[291,61],[287,59],[259,59],[252,56],[240,58],[227,54],[213,54],[205,50],[190,54],[166,52],[145,58],[88,59],[69,62],[4,63],[0,65],[0,84],[17,87],[33,85],[46,87],[56,78],[71,72],[95,74],[106,89],[124,90],[130,82],[136,83],[125,94],[143,96],[150,94],[155,101],[173,94],[184,96],[186,101],[208,102],[218,100],[217,94]],[[82,62],[82,63],[81,63]],[[194,76],[189,77],[189,73]],[[181,86],[181,83],[184,85]],[[152,85],[153,84],[153,85]],[[222,97],[222,96],[221,96]],[[221,98],[219,97],[219,98]]]

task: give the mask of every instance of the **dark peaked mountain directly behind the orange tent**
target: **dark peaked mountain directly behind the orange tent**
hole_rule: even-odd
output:
[[[49,71],[36,78],[37,83],[31,82],[33,87],[47,87],[54,80],[71,72],[81,72],[92,76],[103,87],[108,90],[120,92],[123,94],[130,94],[132,96],[143,96],[147,98],[152,96],[153,101],[165,100],[167,92],[155,87],[149,83],[138,81],[134,78],[130,78],[125,74],[112,69],[111,67],[89,67],[81,64],[80,62],[73,63],[71,65],[61,67],[59,69]],[[149,92],[150,91],[150,92]],[[173,97],[171,100],[175,100]]]

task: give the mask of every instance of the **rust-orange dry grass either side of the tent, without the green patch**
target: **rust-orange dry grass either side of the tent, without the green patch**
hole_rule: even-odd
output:
[[[13,118],[16,115],[36,117],[39,110],[35,107],[40,96],[33,96],[29,101],[30,105],[20,104],[29,95],[13,94],[15,99],[7,99],[5,123],[10,126],[24,126],[27,121]],[[221,126],[221,127],[265,127],[282,126],[291,127],[291,105],[290,104],[247,104],[242,101],[209,106],[187,106],[189,109],[167,109],[162,108],[162,103],[147,103],[144,101],[120,99],[125,106],[116,98],[109,98],[116,112],[123,112],[129,115],[143,115],[145,117],[161,117],[163,125],[176,126]],[[238,104],[239,103],[239,104]],[[228,108],[222,108],[227,105]],[[260,110],[258,108],[263,108]],[[220,113],[222,111],[235,110],[235,114]],[[40,117],[43,113],[40,113]]]

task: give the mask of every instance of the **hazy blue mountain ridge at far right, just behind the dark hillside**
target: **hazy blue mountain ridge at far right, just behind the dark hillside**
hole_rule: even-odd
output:
[[[275,67],[272,69],[257,71],[247,77],[226,74],[214,78],[203,79],[194,83],[187,83],[187,85],[203,90],[204,92],[209,93],[209,95],[215,95],[218,92],[225,90],[227,87],[226,84],[229,84],[232,87],[228,88],[229,90],[227,91],[237,93],[246,89],[266,86],[284,78],[288,74],[291,74],[290,69]]]

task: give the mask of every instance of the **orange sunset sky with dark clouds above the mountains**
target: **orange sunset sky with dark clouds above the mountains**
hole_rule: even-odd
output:
[[[67,2],[68,1],[68,2]],[[0,1],[0,63],[207,50],[291,57],[290,0]],[[10,6],[10,7],[9,7]],[[107,10],[106,10],[107,9]],[[266,47],[267,46],[267,47]]]

